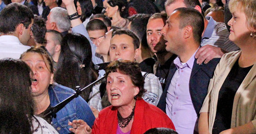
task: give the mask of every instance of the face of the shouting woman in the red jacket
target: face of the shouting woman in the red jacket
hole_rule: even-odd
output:
[[[139,87],[132,83],[130,76],[117,72],[109,73],[106,79],[106,91],[112,106],[133,106],[134,96]]]

